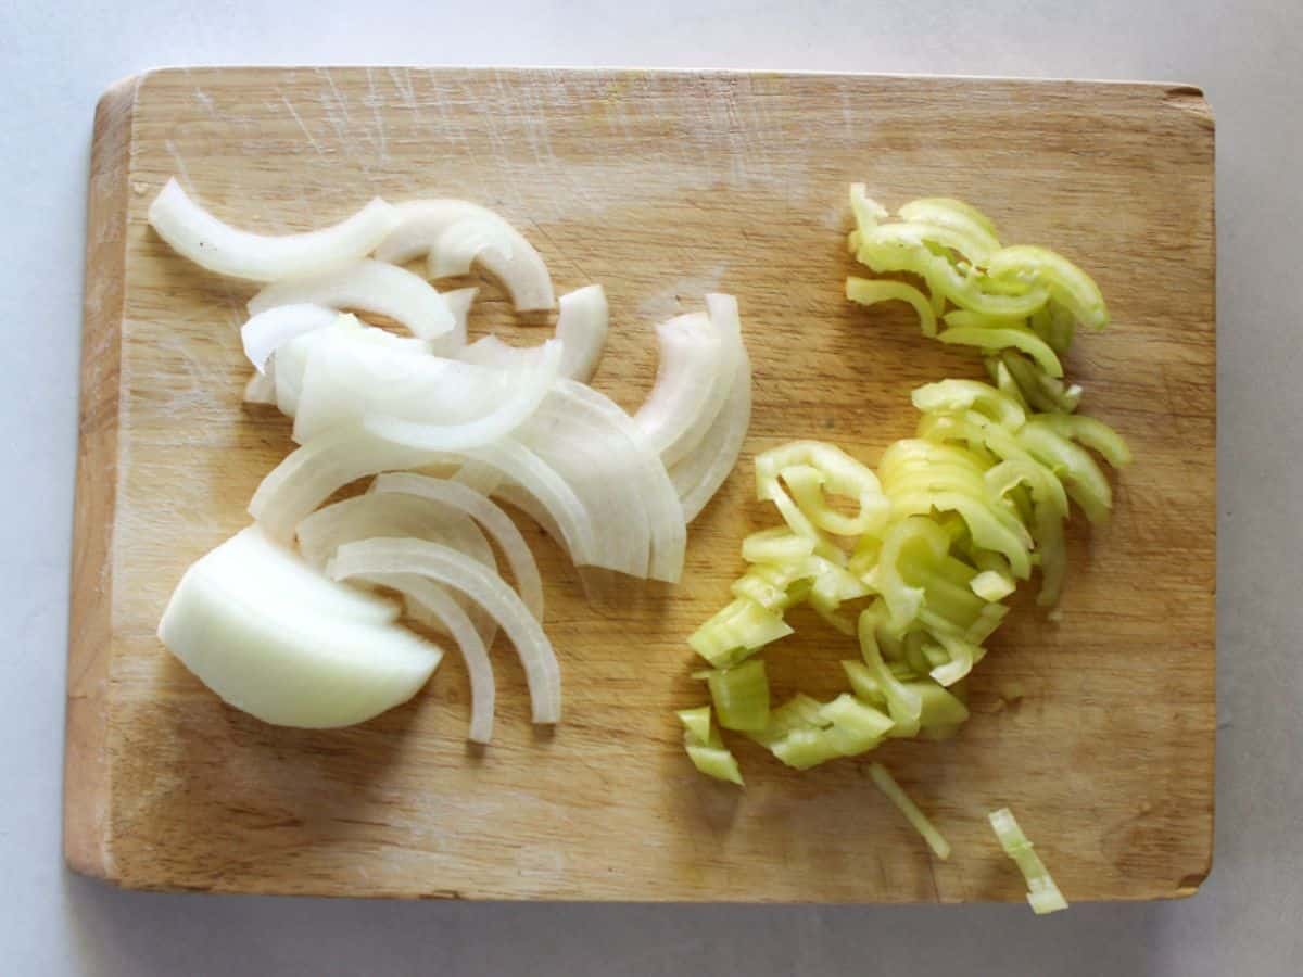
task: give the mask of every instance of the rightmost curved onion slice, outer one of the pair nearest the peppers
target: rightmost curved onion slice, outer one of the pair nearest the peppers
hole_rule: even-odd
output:
[[[724,323],[728,336],[736,335],[737,358],[732,366],[728,396],[706,436],[687,459],[670,469],[679,491],[683,515],[692,522],[734,470],[751,425],[751,358],[741,343],[737,301],[731,296],[706,296],[713,323]]]

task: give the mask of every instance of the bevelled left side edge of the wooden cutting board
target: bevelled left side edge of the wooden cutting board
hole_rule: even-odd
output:
[[[95,107],[68,623],[64,857],[76,871],[109,881],[117,877],[107,825],[112,783],[107,736],[126,197],[132,129],[143,79],[137,74],[116,82]]]

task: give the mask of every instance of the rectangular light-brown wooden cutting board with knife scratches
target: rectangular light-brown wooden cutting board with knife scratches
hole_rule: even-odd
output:
[[[251,289],[147,228],[176,175],[218,215],[288,232],[373,194],[500,210],[559,290],[602,283],[595,386],[636,408],[653,324],[710,290],[741,304],[756,365],[747,452],[692,525],[678,588],[592,607],[555,546],[564,675],[555,735],[495,650],[493,745],[468,749],[453,655],[365,726],[305,732],[225,707],[154,629],[182,569],[246,524],[288,423],[240,404]],[[704,701],[684,638],[728,599],[741,537],[775,522],[751,457],[826,438],[874,461],[912,432],[911,388],[979,376],[907,310],[842,298],[852,180],[893,206],[954,195],[1005,238],[1049,244],[1113,313],[1068,370],[1138,461],[1117,515],[1078,525],[1057,620],[1022,603],[972,679],[959,739],[878,754],[954,844],[938,862],[866,761],[799,775],[749,743],[745,791],[688,765],[672,710]],[[870,76],[463,69],[203,69],[100,102],[68,677],[65,844],[122,886],[465,899],[1019,900],[986,812],[1011,805],[1070,900],[1188,895],[1213,826],[1213,122],[1195,89]],[[533,341],[486,284],[473,332]],[[533,332],[529,330],[533,328]],[[779,692],[826,694],[840,636],[770,653]],[[1020,703],[998,696],[1016,680]]]

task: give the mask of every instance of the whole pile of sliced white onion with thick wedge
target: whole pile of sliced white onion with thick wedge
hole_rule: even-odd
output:
[[[525,668],[533,720],[556,723],[538,565],[494,499],[534,517],[579,567],[676,582],[685,526],[735,466],[751,419],[736,301],[706,296],[704,313],[658,327],[655,384],[631,417],[586,386],[607,335],[601,285],[560,296],[539,345],[468,340],[477,290],[427,279],[478,263],[517,310],[558,304],[538,251],[478,205],[375,199],[334,227],[267,237],[228,227],[169,180],[150,223],[194,263],[262,283],[241,331],[254,369],[245,400],[292,418],[298,444],[258,486],[254,525],[186,572],[163,642],[268,723],[362,722],[410,698],[442,655],[395,623],[399,606],[378,590],[460,649],[473,741],[493,735],[499,629]],[[426,275],[403,267],[418,258]],[[367,492],[321,508],[373,475]]]

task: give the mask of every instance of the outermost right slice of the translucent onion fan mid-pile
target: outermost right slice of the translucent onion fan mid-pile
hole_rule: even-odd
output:
[[[688,545],[687,522],[683,518],[683,505],[679,494],[670,481],[670,474],[654,452],[638,443],[638,431],[633,418],[609,397],[592,387],[573,380],[560,380],[555,395],[569,401],[575,410],[589,410],[614,429],[612,438],[620,438],[633,451],[633,488],[648,513],[652,531],[652,559],[648,576],[676,584],[683,576],[684,551]]]

